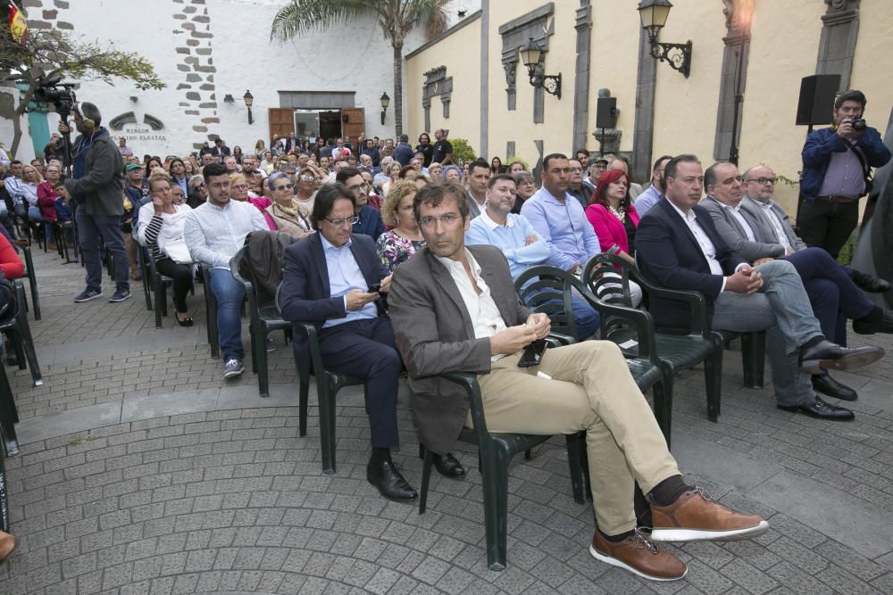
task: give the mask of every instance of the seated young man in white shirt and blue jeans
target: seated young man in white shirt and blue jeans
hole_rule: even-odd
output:
[[[239,318],[245,285],[232,276],[230,259],[245,245],[245,236],[253,231],[269,231],[270,227],[250,202],[230,200],[230,177],[222,163],[205,165],[202,175],[208,200],[189,212],[183,236],[192,260],[210,268],[210,289],[217,300],[223,377],[230,379],[245,371]]]

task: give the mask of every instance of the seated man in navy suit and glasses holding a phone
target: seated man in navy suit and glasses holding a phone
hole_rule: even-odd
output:
[[[312,321],[319,330],[322,361],[333,371],[366,381],[372,454],[366,478],[390,500],[414,500],[416,492],[396,469],[390,449],[400,442],[396,392],[400,356],[390,320],[379,310],[380,292],[390,286],[371,237],[351,233],[354,193],[341,184],[320,188],[313,203],[319,231],[288,247],[280,289],[282,318]],[[309,375],[306,340],[296,333],[295,361],[301,382]],[[462,475],[452,455],[438,460],[444,475]]]

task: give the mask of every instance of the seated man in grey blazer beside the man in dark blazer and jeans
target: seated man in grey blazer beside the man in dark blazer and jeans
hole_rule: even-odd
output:
[[[704,173],[707,195],[700,204],[710,213],[716,231],[731,249],[755,266],[776,258],[789,260],[803,282],[813,314],[822,325],[822,334],[834,343],[847,344],[847,318],[853,319],[857,333],[893,332],[893,317],[865,297],[828,252],[805,245],[795,251],[783,230],[783,239],[775,236],[760,208],[744,201],[745,179],[734,164],[726,162],[714,163]],[[769,186],[770,192],[773,187]],[[776,219],[774,211],[769,214]],[[780,224],[779,219],[776,221]],[[793,229],[790,232],[793,235]],[[885,317],[889,320],[887,325]],[[813,386],[830,397],[845,401],[857,398],[853,389],[840,384],[827,371],[813,376]]]

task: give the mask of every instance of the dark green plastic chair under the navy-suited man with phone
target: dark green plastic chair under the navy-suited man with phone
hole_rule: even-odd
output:
[[[282,285],[276,290],[276,311],[280,309],[280,295]],[[289,323],[294,332],[303,333],[307,337],[310,347],[310,373],[316,376],[316,400],[320,408],[320,442],[322,450],[322,473],[335,474],[335,397],[345,386],[365,385],[363,378],[349,376],[339,372],[331,372],[322,365],[322,353],[320,351],[320,339],[316,332],[316,326],[312,322],[296,321]],[[310,396],[310,383],[300,382],[298,393],[298,434],[307,435],[307,401]],[[368,404],[367,404],[368,409]]]

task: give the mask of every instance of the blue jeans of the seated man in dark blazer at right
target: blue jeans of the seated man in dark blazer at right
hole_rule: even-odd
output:
[[[812,403],[812,378],[800,369],[799,352],[800,345],[822,336],[822,328],[793,264],[772,260],[756,270],[763,275],[760,293],[720,293],[714,302],[713,327],[739,333],[768,330],[766,351],[778,404]]]

